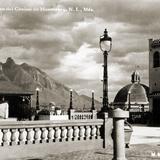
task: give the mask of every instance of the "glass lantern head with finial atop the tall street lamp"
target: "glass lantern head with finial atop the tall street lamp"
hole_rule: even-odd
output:
[[[100,36],[99,46],[102,52],[110,52],[112,48],[112,38],[108,36],[107,29],[104,30],[103,36]]]

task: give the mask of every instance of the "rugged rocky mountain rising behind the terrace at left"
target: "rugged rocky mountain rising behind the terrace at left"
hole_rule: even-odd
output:
[[[11,81],[13,84],[24,90],[33,91],[32,106],[36,102],[36,88],[40,88],[39,101],[41,106],[47,106],[49,102],[55,102],[64,110],[68,110],[70,101],[70,88],[55,81],[52,77],[41,71],[39,68],[27,63],[16,64],[12,58],[5,63],[0,63],[0,81]],[[91,98],[80,96],[73,91],[73,107],[76,110],[90,110]],[[95,107],[100,110],[100,102],[95,100]]]

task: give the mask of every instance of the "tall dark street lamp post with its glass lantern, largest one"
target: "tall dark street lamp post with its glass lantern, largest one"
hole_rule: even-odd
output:
[[[108,112],[108,53],[112,48],[112,38],[108,36],[107,29],[104,30],[103,36],[100,36],[99,46],[104,56],[104,70],[103,70],[103,107],[102,112]]]

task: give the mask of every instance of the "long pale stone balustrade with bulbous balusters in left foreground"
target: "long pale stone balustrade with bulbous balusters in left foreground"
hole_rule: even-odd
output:
[[[103,120],[97,119],[21,123],[0,125],[0,146],[99,139],[103,126]]]

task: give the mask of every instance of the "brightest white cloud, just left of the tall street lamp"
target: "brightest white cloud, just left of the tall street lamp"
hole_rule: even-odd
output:
[[[100,64],[94,60],[96,48],[90,48],[90,45],[84,43],[76,53],[69,52],[63,59],[61,65],[54,70],[55,76],[64,76],[70,79],[74,75],[77,79],[99,79]],[[59,73],[62,73],[59,75]],[[70,74],[69,74],[70,73]]]

